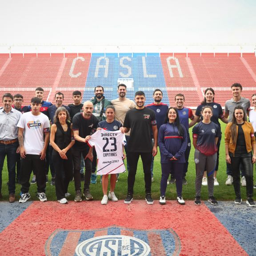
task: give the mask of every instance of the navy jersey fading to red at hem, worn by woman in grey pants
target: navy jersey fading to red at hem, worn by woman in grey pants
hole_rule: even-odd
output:
[[[220,136],[220,127],[217,124],[204,124],[201,121],[193,127],[192,132],[193,138],[197,138],[196,149],[202,154],[211,156],[217,152],[215,138]]]

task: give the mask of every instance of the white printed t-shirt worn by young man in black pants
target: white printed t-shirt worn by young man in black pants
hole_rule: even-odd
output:
[[[17,126],[24,129],[26,154],[39,155],[44,148],[44,132],[50,132],[48,116],[43,113],[34,116],[32,112],[27,112],[20,117]]]

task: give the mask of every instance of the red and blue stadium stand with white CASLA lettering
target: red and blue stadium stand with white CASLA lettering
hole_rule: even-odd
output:
[[[185,105],[196,108],[205,88],[216,91],[215,101],[224,106],[232,97],[230,86],[239,82],[242,96],[256,92],[255,53],[16,53],[0,54],[0,96],[21,93],[28,104],[36,87],[45,90],[53,102],[56,92],[64,93],[64,104],[72,103],[72,92],[80,90],[83,101],[102,85],[107,99],[117,97],[117,81],[132,80],[127,97],[146,94],[152,103],[155,88],[164,92],[163,102],[174,105],[177,93]]]

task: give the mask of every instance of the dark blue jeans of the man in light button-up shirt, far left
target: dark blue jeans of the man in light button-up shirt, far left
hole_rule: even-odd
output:
[[[0,191],[2,189],[2,170],[4,166],[4,159],[7,156],[7,168],[9,176],[8,190],[9,194],[15,193],[16,181],[16,150],[18,148],[18,141],[12,144],[0,144]]]

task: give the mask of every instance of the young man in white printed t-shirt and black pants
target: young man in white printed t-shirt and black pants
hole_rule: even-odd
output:
[[[17,124],[21,157],[20,184],[22,187],[20,203],[25,203],[30,198],[28,191],[32,170],[36,175],[37,197],[41,202],[47,201],[45,195],[45,156],[50,138],[50,122],[48,116],[40,112],[41,106],[40,98],[32,98],[32,111],[24,113]]]

